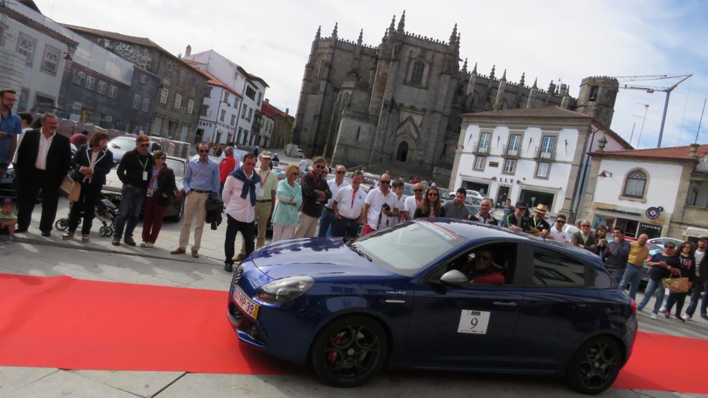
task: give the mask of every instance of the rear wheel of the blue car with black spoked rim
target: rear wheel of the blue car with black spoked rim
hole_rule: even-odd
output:
[[[566,368],[568,384],[583,394],[599,394],[609,388],[622,368],[622,350],[608,336],[583,343]]]

